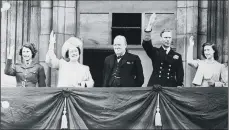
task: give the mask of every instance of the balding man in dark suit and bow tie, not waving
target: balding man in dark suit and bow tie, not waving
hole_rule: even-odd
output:
[[[144,82],[141,60],[126,51],[124,36],[114,39],[114,52],[104,61],[103,87],[141,87]]]

